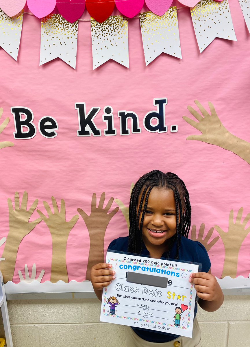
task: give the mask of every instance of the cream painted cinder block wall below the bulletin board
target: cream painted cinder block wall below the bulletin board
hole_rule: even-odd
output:
[[[99,322],[97,299],[10,300],[8,310],[14,347],[125,346],[122,326]],[[249,317],[250,296],[225,296],[216,312],[200,309],[202,347],[249,347]]]

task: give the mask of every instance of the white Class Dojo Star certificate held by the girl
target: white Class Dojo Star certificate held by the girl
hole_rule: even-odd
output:
[[[115,279],[104,288],[102,322],[192,337],[199,264],[107,252]]]

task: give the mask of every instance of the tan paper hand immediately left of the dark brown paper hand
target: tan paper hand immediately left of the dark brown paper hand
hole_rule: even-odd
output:
[[[62,280],[68,282],[68,272],[66,266],[66,245],[71,229],[76,224],[79,215],[76,214],[69,222],[66,222],[66,208],[65,202],[61,200],[61,210],[57,205],[54,196],[51,197],[54,213],[50,205],[44,201],[43,205],[48,213],[45,216],[40,210],[37,213],[42,217],[50,230],[52,237],[52,263],[51,263],[51,276],[50,281],[53,283]]]

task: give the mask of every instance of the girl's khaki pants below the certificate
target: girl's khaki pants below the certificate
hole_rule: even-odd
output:
[[[130,327],[125,327],[125,336],[127,347],[201,347],[200,345],[200,327],[197,318],[193,321],[193,336],[178,338],[164,343],[149,342],[140,338]]]

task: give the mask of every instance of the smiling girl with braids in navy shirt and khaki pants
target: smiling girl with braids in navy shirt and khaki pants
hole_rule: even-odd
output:
[[[202,264],[202,272],[192,273],[198,303],[205,311],[216,311],[223,303],[223,293],[210,273],[210,260],[205,247],[188,239],[191,223],[189,194],[184,182],[172,172],[153,170],[135,184],[129,204],[129,236],[111,242],[109,249],[141,254],[152,258],[170,258]],[[102,289],[115,279],[111,264],[97,264],[91,270],[91,281],[101,300]],[[197,303],[195,306],[195,317]],[[195,347],[200,346],[197,319],[192,338],[148,329],[126,327],[128,347]]]

